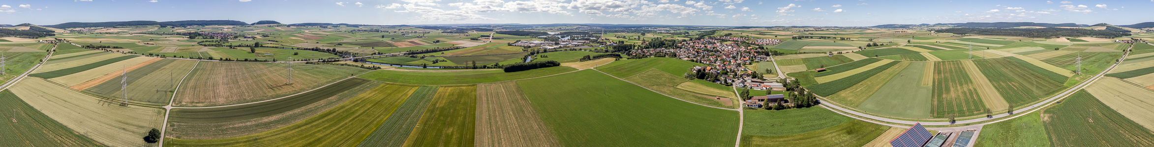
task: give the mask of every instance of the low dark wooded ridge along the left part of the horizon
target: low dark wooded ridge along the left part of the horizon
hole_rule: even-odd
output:
[[[133,25],[162,25],[162,26],[248,25],[248,23],[240,21],[173,21],[173,22],[128,21],[128,22],[99,22],[99,23],[72,22],[72,23],[61,23],[57,25],[44,25],[44,26],[67,29],[67,28],[106,28],[106,26],[133,26]]]

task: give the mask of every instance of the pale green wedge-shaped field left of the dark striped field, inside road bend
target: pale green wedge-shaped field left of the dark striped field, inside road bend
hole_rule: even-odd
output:
[[[929,118],[930,94],[934,90],[923,86],[922,76],[927,62],[912,62],[877,92],[870,95],[857,109],[885,116],[902,118]]]

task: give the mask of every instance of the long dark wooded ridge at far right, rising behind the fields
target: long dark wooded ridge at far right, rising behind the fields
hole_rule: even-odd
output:
[[[1042,28],[1042,29],[982,29],[982,28],[951,28],[936,30],[935,32],[957,34],[986,34],[986,36],[1013,36],[1013,37],[1125,37],[1130,33],[1088,30],[1088,29],[1065,29],[1065,28]]]

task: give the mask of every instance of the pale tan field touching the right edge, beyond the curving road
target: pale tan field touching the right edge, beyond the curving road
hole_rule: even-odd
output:
[[[1154,91],[1130,85],[1117,78],[1102,78],[1086,87],[1095,98],[1148,130],[1154,130]]]

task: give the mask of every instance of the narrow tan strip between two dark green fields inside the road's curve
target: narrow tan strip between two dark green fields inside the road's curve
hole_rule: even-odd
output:
[[[974,87],[977,88],[977,95],[982,96],[982,103],[986,103],[986,108],[990,108],[992,111],[1007,110],[1010,103],[1005,99],[1002,99],[1002,94],[998,94],[994,84],[982,75],[981,70],[977,70],[977,64],[974,61],[966,60],[961,61],[961,64],[966,67],[966,74],[969,75],[969,79],[974,82]]]

